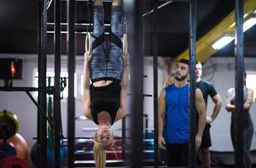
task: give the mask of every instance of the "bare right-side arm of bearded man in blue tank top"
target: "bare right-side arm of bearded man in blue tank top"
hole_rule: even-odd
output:
[[[195,107],[199,115],[198,129],[195,135],[195,147],[196,149],[199,149],[201,140],[202,140],[202,134],[205,129],[205,121],[206,121],[205,100],[200,89],[195,90]]]

